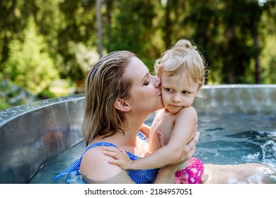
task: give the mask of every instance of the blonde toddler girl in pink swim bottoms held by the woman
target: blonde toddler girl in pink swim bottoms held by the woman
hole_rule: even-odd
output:
[[[164,52],[154,65],[161,78],[161,94],[164,108],[156,113],[149,132],[149,155],[131,161],[125,152],[104,147],[105,155],[114,160],[109,163],[125,170],[161,168],[175,162],[183,148],[192,139],[197,124],[197,112],[192,107],[195,97],[205,83],[207,69],[202,55],[188,40],[179,40]],[[145,125],[141,131],[144,131]],[[156,131],[161,131],[167,141],[160,148]],[[176,183],[201,183],[204,165],[197,158],[179,164],[175,173]]]

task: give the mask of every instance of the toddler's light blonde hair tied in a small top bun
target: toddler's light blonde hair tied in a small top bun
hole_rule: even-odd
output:
[[[197,96],[202,96],[200,89],[209,72],[205,58],[189,40],[178,40],[176,45],[163,52],[161,58],[156,60],[154,69],[159,78],[163,73],[168,76],[175,76],[185,72],[192,81],[200,84]]]

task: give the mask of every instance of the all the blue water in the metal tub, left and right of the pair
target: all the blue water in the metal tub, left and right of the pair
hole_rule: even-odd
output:
[[[276,167],[276,115],[200,114],[200,141],[195,157],[203,163],[264,163]],[[50,158],[28,183],[54,183],[53,178],[79,158],[84,141]],[[276,175],[275,175],[276,177]],[[64,183],[66,176],[57,183]],[[272,181],[276,182],[276,178]]]

